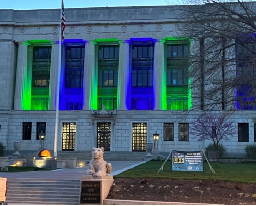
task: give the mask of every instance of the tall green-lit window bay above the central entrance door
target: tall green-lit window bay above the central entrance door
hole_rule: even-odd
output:
[[[119,45],[99,45],[98,50],[98,110],[117,108]]]

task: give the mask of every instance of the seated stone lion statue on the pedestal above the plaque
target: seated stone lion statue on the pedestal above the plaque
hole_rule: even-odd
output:
[[[104,147],[92,147],[92,159],[90,161],[89,169],[86,170],[85,175],[93,175],[93,177],[109,175],[111,172],[111,164],[103,159]]]

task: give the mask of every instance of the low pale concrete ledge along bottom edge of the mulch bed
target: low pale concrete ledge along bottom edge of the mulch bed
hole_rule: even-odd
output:
[[[111,200],[105,199],[104,205],[220,205],[220,204],[198,204],[185,202],[154,202],[154,201],[138,201],[138,200]]]

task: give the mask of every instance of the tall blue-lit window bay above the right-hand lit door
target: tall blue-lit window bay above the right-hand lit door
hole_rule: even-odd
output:
[[[133,42],[131,63],[131,109],[152,110],[154,43]]]

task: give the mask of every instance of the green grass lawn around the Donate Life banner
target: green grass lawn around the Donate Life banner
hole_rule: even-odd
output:
[[[115,178],[151,178],[151,179],[220,179],[226,182],[256,183],[255,163],[222,163],[211,162],[216,174],[213,174],[207,162],[204,162],[204,172],[172,171],[172,162],[167,161],[163,170],[158,170],[164,161],[148,161],[137,167],[124,171]]]

